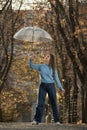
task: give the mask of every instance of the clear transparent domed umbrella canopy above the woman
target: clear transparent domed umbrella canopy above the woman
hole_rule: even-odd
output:
[[[53,40],[48,32],[39,27],[24,27],[13,38],[29,42],[52,42]]]

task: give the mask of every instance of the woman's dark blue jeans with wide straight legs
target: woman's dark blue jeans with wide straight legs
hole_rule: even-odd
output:
[[[45,105],[46,93],[48,93],[52,105],[54,121],[59,122],[59,113],[58,113],[58,107],[56,102],[56,90],[55,90],[54,83],[41,83],[39,88],[39,94],[38,94],[38,105],[36,108],[36,114],[34,116],[34,119],[37,122],[41,122],[41,118],[43,116],[43,109]]]

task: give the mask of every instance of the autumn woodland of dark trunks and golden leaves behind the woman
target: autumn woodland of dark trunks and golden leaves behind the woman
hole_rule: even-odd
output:
[[[31,121],[39,76],[29,68],[29,54],[42,63],[44,54],[51,52],[65,89],[64,96],[57,90],[61,122],[87,123],[87,1],[36,0],[27,10],[21,10],[23,0],[17,10],[12,2],[0,1],[0,121]],[[45,29],[53,43],[14,40],[24,26]]]

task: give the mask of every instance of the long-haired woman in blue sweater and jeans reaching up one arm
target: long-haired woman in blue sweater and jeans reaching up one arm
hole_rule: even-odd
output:
[[[60,124],[58,107],[57,107],[57,102],[56,102],[56,90],[54,86],[54,80],[56,81],[58,88],[63,93],[65,90],[63,89],[60,83],[60,80],[58,78],[54,55],[53,54],[47,55],[45,57],[45,62],[46,62],[45,64],[33,64],[31,58],[29,62],[30,67],[32,69],[38,70],[41,76],[41,84],[39,87],[39,94],[38,94],[38,104],[36,108],[36,114],[32,122],[33,125],[41,122],[41,118],[43,116],[46,93],[48,93],[48,96],[52,105],[54,121],[56,124]]]

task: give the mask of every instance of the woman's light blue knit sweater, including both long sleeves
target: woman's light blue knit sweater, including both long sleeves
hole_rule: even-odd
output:
[[[29,61],[29,65],[32,69],[38,70],[41,76],[42,83],[54,83],[56,81],[57,87],[62,90],[62,84],[59,80],[57,70],[54,73],[53,78],[53,70],[48,64],[34,64],[32,59]]]

